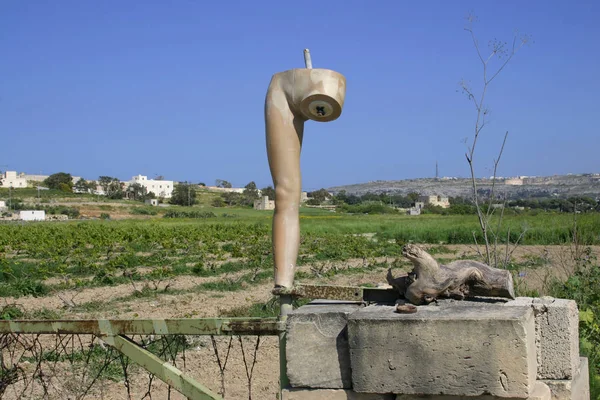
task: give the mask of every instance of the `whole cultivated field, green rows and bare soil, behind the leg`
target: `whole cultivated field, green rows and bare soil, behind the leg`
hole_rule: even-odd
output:
[[[270,295],[272,212],[212,208],[208,202],[188,208],[127,201],[80,207],[82,215],[87,207],[88,214],[121,219],[0,224],[1,318],[276,315]],[[197,218],[166,218],[173,211]],[[401,245],[409,241],[425,245],[442,262],[477,257],[475,216],[350,215],[303,208],[300,218],[298,281],[372,286],[385,280],[388,268],[410,268],[400,255]],[[599,251],[600,214],[580,214],[576,221],[573,215],[550,213],[505,218],[503,237],[509,230],[513,239],[524,232],[524,245],[510,264],[520,294],[550,293],[548,282],[576,271],[573,260],[565,262],[575,227],[579,244],[592,246],[587,260],[593,260]],[[553,275],[557,271],[563,274]],[[578,279],[582,285],[596,278]],[[573,290],[565,296],[581,293]],[[596,291],[588,290],[580,304]],[[594,332],[593,326],[584,325],[582,332]],[[593,337],[582,343],[592,349],[584,346],[585,351],[594,351]],[[265,389],[257,398],[273,398],[277,386],[272,368],[276,342],[272,347],[264,356]],[[231,382],[235,386],[235,376]]]

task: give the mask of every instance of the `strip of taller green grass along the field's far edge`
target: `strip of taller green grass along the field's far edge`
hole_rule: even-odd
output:
[[[151,212],[157,212],[152,217],[153,220],[160,220],[171,208],[157,211],[151,207],[132,207],[135,210],[151,209]],[[177,207],[177,210],[183,212],[198,209],[199,207]],[[201,210],[214,213],[216,218],[161,220],[160,223],[244,225],[257,223],[269,226],[272,217],[271,211],[252,209],[201,207]],[[110,214],[110,210],[106,209],[106,212]],[[300,221],[302,232],[307,234],[374,233],[381,240],[394,239],[418,243],[471,244],[473,233],[479,232],[477,218],[473,215],[351,215],[303,208],[300,212]],[[572,214],[565,213],[505,216],[500,237],[506,238],[510,232],[511,240],[515,241],[525,232],[522,238],[523,244],[564,244],[572,240],[575,224],[582,241],[587,244],[600,244],[600,214],[598,213],[578,215],[576,222]],[[480,236],[478,240],[481,240]]]

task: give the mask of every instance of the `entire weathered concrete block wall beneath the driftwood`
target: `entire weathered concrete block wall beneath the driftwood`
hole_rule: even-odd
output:
[[[317,303],[288,318],[283,399],[589,400],[573,301]]]

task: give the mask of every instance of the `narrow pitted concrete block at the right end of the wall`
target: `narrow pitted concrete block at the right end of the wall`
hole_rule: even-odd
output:
[[[579,311],[573,300],[520,297],[507,306],[529,305],[535,313],[539,380],[573,379],[579,370]]]

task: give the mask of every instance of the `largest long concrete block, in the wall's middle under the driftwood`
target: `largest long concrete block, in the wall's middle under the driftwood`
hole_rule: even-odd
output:
[[[528,398],[537,369],[533,311],[503,304],[354,312],[348,317],[353,390]]]

